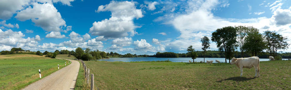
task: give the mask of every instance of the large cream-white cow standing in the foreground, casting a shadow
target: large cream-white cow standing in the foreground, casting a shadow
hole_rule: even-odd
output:
[[[232,58],[231,65],[236,64],[238,68],[240,68],[240,76],[243,75],[243,68],[255,68],[257,76],[260,77],[260,58],[257,56],[248,57],[248,58]]]

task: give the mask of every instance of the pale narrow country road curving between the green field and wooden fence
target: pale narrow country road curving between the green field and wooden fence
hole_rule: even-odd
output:
[[[57,70],[22,90],[73,90],[75,88],[80,63],[75,60],[71,61],[72,63],[67,67]]]

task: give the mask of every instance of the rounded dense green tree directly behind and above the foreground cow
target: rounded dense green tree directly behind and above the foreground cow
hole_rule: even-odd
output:
[[[252,53],[252,56],[257,56],[257,53],[266,49],[266,43],[262,34],[257,32],[248,33],[245,38],[243,49]]]

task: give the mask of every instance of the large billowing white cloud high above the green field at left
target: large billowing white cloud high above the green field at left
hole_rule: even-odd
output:
[[[31,19],[36,26],[41,27],[47,32],[60,32],[60,27],[66,26],[66,22],[53,4],[32,3],[32,6],[18,12],[15,18],[20,21]]]

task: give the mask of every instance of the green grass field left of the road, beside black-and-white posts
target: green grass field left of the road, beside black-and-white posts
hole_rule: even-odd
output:
[[[0,90],[17,90],[65,66],[65,60],[31,54],[0,55]],[[67,62],[67,61],[66,61]],[[67,62],[68,65],[68,62]]]

